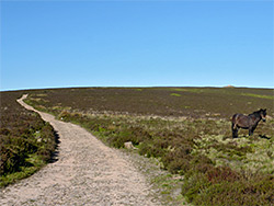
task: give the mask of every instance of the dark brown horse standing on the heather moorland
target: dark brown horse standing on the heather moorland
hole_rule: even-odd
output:
[[[266,108],[253,112],[249,115],[235,114],[232,116],[232,137],[238,137],[239,128],[249,129],[249,136],[253,135],[259,122],[263,119],[265,122]]]

